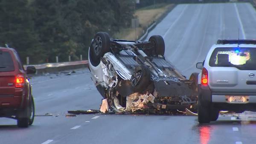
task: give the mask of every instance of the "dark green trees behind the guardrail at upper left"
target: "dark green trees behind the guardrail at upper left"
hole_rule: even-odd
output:
[[[0,0],[0,46],[32,63],[87,59],[96,32],[131,25],[135,0]]]

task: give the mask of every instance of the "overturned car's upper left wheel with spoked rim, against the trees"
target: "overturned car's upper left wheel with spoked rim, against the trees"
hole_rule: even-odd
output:
[[[98,66],[103,55],[110,51],[110,37],[106,32],[97,32],[90,44],[89,57],[93,66]]]

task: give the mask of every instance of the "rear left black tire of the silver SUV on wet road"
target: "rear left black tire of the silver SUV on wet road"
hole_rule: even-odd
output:
[[[204,107],[199,99],[198,101],[198,122],[200,124],[207,124],[211,121],[210,107]]]

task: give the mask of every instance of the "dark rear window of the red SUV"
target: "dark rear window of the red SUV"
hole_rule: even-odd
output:
[[[0,72],[14,71],[12,56],[9,52],[0,51]]]

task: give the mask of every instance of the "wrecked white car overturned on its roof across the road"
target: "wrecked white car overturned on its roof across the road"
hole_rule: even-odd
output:
[[[89,47],[91,78],[103,97],[102,112],[158,112],[193,109],[197,78],[189,80],[164,57],[160,35],[148,41],[110,39],[98,32]]]

